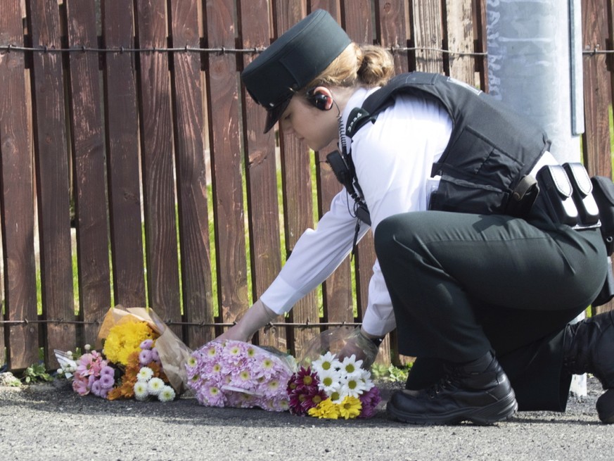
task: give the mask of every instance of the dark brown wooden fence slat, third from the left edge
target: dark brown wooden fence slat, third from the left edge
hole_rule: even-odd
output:
[[[67,0],[68,44],[98,46],[94,2]],[[109,249],[107,235],[105,158],[101,118],[98,56],[72,53],[70,93],[72,156],[75,168],[75,213],[79,260],[80,317],[84,342],[94,343],[99,324],[110,305]]]

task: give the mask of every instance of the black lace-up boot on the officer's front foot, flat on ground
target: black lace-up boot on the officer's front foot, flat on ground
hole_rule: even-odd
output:
[[[492,424],[518,410],[516,396],[491,353],[463,365],[446,365],[447,375],[435,386],[392,394],[388,414],[411,424]]]

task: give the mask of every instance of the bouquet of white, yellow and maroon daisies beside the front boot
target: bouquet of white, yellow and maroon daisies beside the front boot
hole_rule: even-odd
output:
[[[307,368],[300,367],[288,381],[290,412],[329,419],[372,417],[380,393],[361,365],[355,355],[338,360],[327,352]]]

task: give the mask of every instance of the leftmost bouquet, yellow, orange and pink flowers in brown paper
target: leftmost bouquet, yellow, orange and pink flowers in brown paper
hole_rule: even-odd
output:
[[[80,396],[93,394],[108,400],[156,398],[174,400],[183,391],[177,362],[188,355],[177,336],[151,310],[112,308],[98,334],[101,350],[84,353],[55,351],[58,374],[72,380]]]

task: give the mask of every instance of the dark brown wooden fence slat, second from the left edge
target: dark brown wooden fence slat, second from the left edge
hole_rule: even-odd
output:
[[[33,46],[59,49],[60,16],[56,0],[27,2]],[[43,317],[74,320],[70,238],[70,196],[62,56],[32,55],[32,115],[36,158]],[[45,360],[58,362],[53,349],[68,351],[76,342],[75,324],[48,323],[44,329]]]

